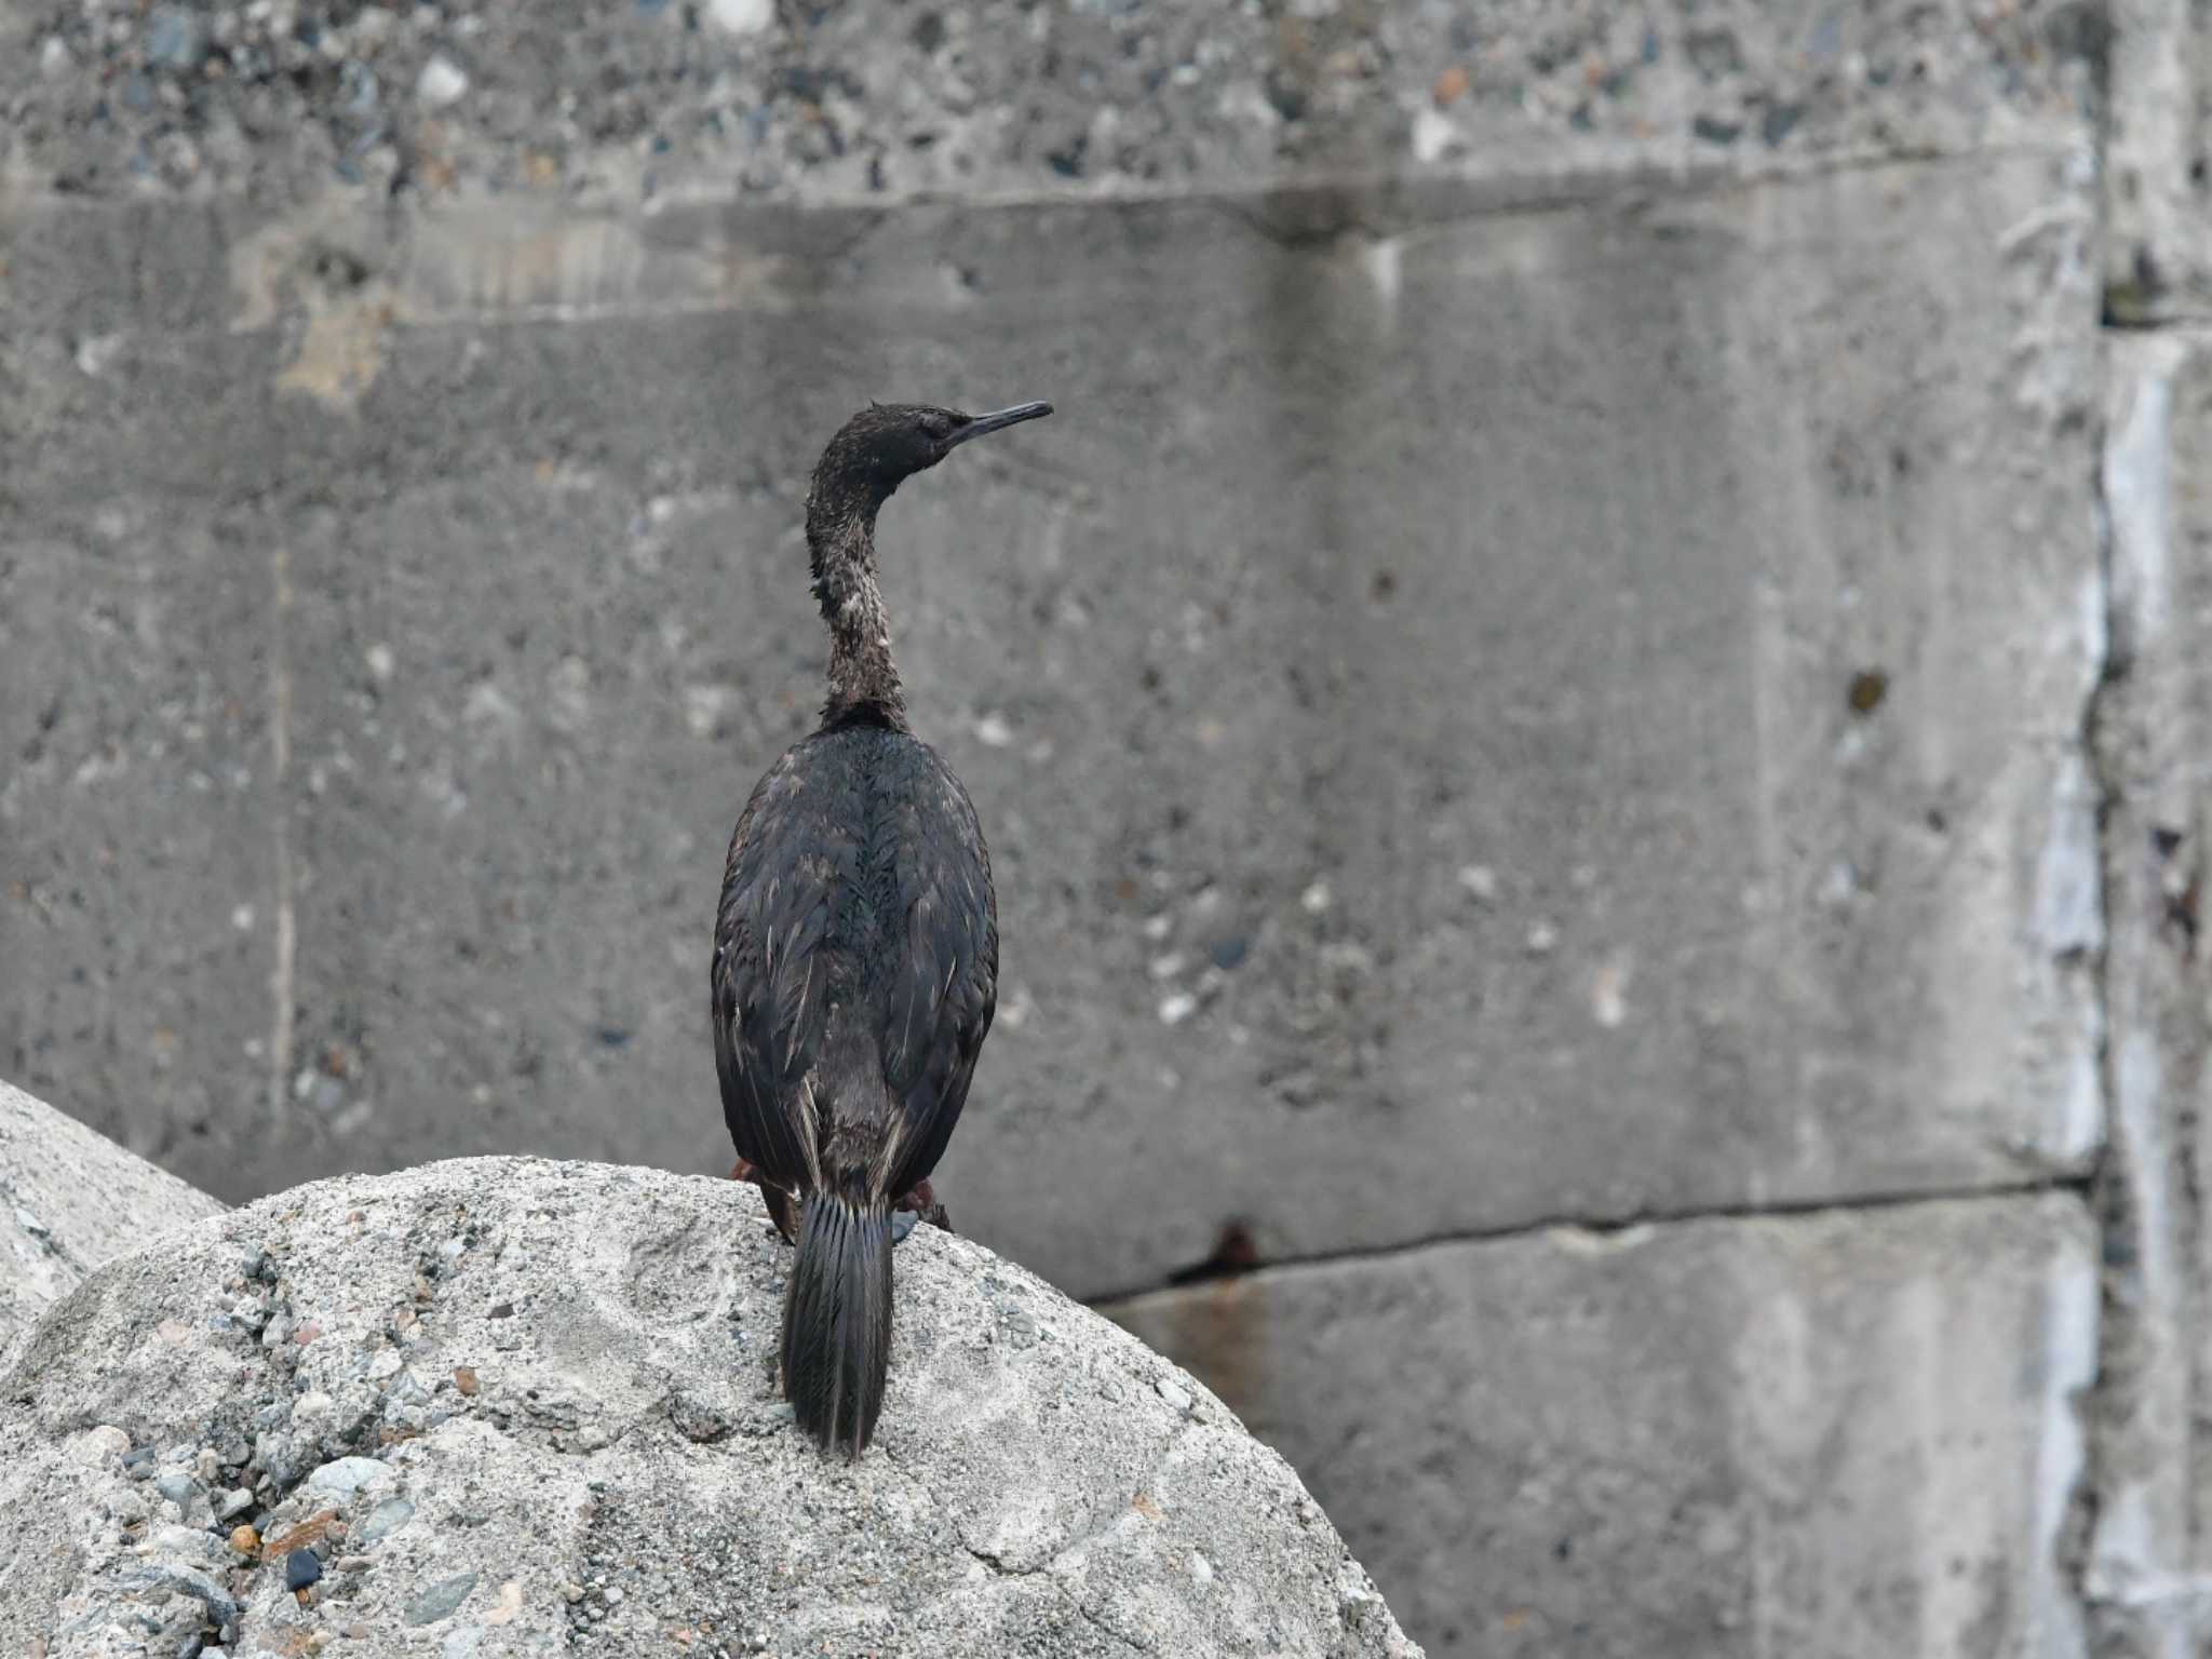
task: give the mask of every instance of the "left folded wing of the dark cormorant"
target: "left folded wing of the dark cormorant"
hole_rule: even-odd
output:
[[[796,1186],[814,1137],[803,1133],[807,1071],[821,1051],[827,975],[816,951],[832,896],[856,858],[852,836],[816,812],[801,752],[768,770],[730,838],[714,918],[714,1071],[730,1139],[772,1179]]]

